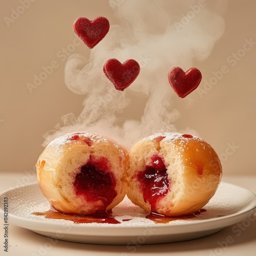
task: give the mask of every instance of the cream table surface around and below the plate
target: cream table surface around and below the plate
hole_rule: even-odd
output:
[[[223,181],[247,188],[256,194],[255,176],[224,176]],[[32,172],[25,174],[0,174],[0,193],[16,187],[36,181],[36,175]],[[3,216],[0,216],[0,225],[4,226]],[[256,214],[255,214],[256,217]],[[256,220],[256,218],[254,218]],[[9,250],[4,254],[4,231],[0,232],[1,249],[0,255],[243,255],[256,256],[256,221],[251,221],[250,225],[243,228],[239,233],[234,233],[232,227],[204,238],[159,245],[137,245],[129,247],[125,245],[92,245],[80,244],[56,240],[50,243],[49,239],[40,236],[25,228],[9,224]],[[237,225],[237,224],[236,224]],[[2,229],[2,228],[1,228]],[[232,237],[232,243],[225,242],[228,237]]]

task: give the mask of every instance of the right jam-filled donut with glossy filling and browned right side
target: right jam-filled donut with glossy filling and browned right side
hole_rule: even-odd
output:
[[[164,216],[193,214],[214,196],[222,167],[204,140],[164,133],[142,139],[130,151],[127,196]]]

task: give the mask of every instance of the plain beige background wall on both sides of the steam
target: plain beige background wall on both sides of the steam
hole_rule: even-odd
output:
[[[105,0],[37,0],[8,27],[5,17],[11,17],[12,9],[17,10],[21,3],[5,1],[0,10],[0,172],[32,170],[44,149],[42,135],[56,129],[58,123],[61,125],[61,116],[78,116],[82,110],[84,96],[66,87],[66,61],[57,57],[75,38],[74,20],[79,16],[93,19],[102,15],[111,24],[116,22]],[[228,2],[224,35],[209,58],[197,63],[197,67],[206,80],[223,65],[229,71],[202,98],[198,92],[191,93],[189,98],[194,103],[190,108],[184,107],[182,99],[175,100],[175,108],[181,113],[175,122],[177,129],[190,127],[214,146],[222,159],[224,174],[255,174],[256,45],[234,67],[227,63],[229,55],[243,48],[245,39],[256,42],[255,10],[253,0]],[[81,44],[73,53],[88,52]],[[49,66],[54,60],[58,67],[30,93],[26,84],[33,82],[42,66]]]

